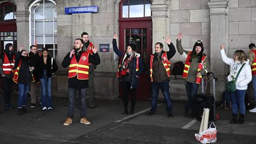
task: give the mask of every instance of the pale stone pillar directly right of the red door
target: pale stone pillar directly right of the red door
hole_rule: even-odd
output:
[[[155,43],[164,44],[167,49],[165,37],[169,35],[169,2],[165,0],[152,1],[152,53],[155,53]]]

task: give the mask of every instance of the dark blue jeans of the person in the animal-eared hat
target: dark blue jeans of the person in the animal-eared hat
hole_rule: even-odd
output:
[[[185,105],[185,111],[187,112],[192,108],[193,104],[195,103],[195,98],[197,95],[197,90],[199,88],[199,84],[194,84],[192,82],[185,82],[185,88],[187,91],[187,97],[188,97],[188,102]]]

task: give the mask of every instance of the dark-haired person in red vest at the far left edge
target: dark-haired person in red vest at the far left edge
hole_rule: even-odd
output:
[[[7,43],[5,45],[4,53],[1,55],[0,59],[0,73],[2,75],[2,85],[4,85],[4,101],[5,110],[10,110],[14,107],[11,106],[11,87],[12,78],[14,73],[11,72],[12,67],[14,67],[15,53],[13,52],[13,44]]]

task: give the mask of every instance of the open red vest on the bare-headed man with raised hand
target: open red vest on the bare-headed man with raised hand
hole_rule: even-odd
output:
[[[151,61],[150,61],[150,77],[151,77],[152,82],[153,82],[153,76],[152,76],[152,73],[153,73],[153,57],[154,57],[154,55],[151,55]],[[169,60],[167,58],[167,52],[164,52],[162,54],[161,59],[162,59],[162,64],[164,65],[165,71],[167,71],[167,75],[171,76],[171,72],[170,72],[170,69],[169,69],[169,67],[171,66],[171,62],[169,62]]]

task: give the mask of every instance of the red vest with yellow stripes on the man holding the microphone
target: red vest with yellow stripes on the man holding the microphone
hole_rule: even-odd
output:
[[[78,79],[89,79],[89,53],[83,52],[79,62],[73,56],[69,65],[68,78],[77,76]]]

